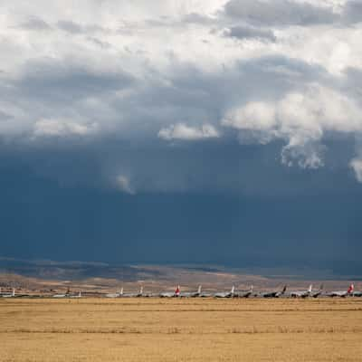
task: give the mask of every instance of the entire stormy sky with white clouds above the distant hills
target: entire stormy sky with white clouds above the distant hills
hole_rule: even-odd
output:
[[[0,255],[362,262],[362,2],[0,0]]]

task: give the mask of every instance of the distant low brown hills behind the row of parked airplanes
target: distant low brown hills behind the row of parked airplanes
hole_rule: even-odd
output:
[[[278,274],[279,272],[279,274]],[[291,288],[315,287],[324,282],[327,288],[345,288],[347,281],[336,281],[319,275],[315,278],[291,275],[287,271],[261,273],[226,269],[220,266],[110,265],[100,262],[24,261],[0,258],[0,287],[23,291],[65,291],[81,289],[89,292],[137,291],[142,285],[147,292],[173,290],[180,284],[183,291],[202,285],[207,291],[247,289],[271,290],[288,284]]]

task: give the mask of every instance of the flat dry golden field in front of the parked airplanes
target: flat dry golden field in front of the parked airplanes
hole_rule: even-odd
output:
[[[4,299],[0,360],[362,361],[362,299]]]

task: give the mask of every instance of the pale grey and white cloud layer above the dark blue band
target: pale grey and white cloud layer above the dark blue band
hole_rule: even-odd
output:
[[[98,148],[115,138],[157,149],[237,139],[241,150],[281,142],[276,163],[316,169],[329,167],[331,139],[351,142],[362,132],[357,1],[35,0],[1,8],[3,142],[48,148],[71,139]],[[129,194],[129,179],[143,177],[137,189],[163,185],[164,175],[115,153],[112,165],[103,162],[111,185]],[[340,167],[361,181],[358,155]]]

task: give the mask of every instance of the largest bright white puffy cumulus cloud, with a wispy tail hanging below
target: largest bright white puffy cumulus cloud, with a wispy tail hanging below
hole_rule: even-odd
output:
[[[274,102],[250,102],[229,111],[222,124],[252,132],[262,144],[284,139],[281,150],[283,164],[317,168],[324,165],[319,142],[326,132],[354,133],[362,131],[362,110],[357,102],[336,90],[311,86],[304,92],[291,92]]]

